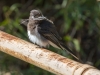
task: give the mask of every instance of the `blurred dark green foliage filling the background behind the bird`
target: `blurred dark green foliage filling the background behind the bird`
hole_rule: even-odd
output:
[[[40,9],[57,27],[63,42],[84,63],[100,69],[100,2],[96,0],[0,0],[0,30],[28,40],[20,24],[30,10]],[[29,40],[28,40],[29,41]],[[51,50],[72,58],[64,51]],[[74,58],[72,58],[74,59]],[[0,75],[53,75],[45,70],[0,52]]]

